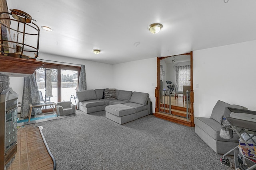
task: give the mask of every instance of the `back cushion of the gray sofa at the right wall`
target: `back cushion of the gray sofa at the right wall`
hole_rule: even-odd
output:
[[[222,102],[218,100],[214,108],[212,109],[212,115],[211,118],[218,121],[219,123],[221,122],[222,116],[224,115],[224,110],[225,107],[232,107],[236,109],[247,109],[246,107],[239,106],[239,105],[230,105],[228,103]]]

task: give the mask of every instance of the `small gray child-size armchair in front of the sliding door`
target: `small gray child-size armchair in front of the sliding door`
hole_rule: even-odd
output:
[[[58,102],[56,107],[60,116],[76,113],[76,106],[72,102]]]

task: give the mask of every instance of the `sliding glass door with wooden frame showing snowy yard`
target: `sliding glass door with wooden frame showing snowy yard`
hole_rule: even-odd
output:
[[[41,102],[72,101],[76,104],[74,98],[76,98],[79,74],[78,66],[45,63],[42,68],[36,70]]]

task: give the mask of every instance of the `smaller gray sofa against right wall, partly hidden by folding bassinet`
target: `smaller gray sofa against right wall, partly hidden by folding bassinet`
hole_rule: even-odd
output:
[[[228,103],[218,101],[212,110],[210,117],[195,117],[195,133],[218,154],[225,154],[233,147],[238,145],[239,136],[233,132],[231,139],[223,139],[220,137],[221,120],[226,107],[236,109],[247,109],[243,106],[230,105]]]

